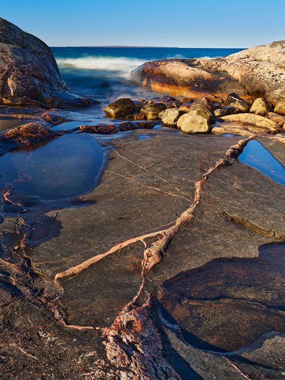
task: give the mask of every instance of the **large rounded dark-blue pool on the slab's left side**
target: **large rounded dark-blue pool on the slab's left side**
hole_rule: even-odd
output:
[[[0,157],[0,189],[41,200],[76,197],[96,184],[103,148],[90,134],[64,135]]]

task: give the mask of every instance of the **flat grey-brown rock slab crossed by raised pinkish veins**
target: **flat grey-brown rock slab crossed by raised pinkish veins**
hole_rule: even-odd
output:
[[[10,295],[1,298],[7,304],[3,328],[18,347],[9,346],[7,333],[3,347],[12,358],[10,368],[19,351],[21,355],[25,351],[29,368],[33,363],[32,371],[39,370],[48,360],[47,339],[53,342],[55,338],[66,350],[74,347],[76,363],[82,367],[75,362],[70,366],[71,359],[65,354],[63,367],[51,359],[55,369],[53,374],[47,372],[47,378],[65,373],[70,379],[79,375],[89,379],[93,373],[94,378],[102,379],[215,376],[226,380],[252,375],[283,379],[280,371],[285,363],[272,350],[272,342],[277,342],[278,352],[282,352],[285,331],[264,337],[257,334],[257,343],[224,356],[195,348],[194,341],[193,345],[189,340],[185,343],[181,331],[184,337],[187,332],[198,336],[198,330],[205,334],[202,325],[196,329],[191,325],[191,330],[189,318],[181,324],[177,318],[178,327],[173,320],[159,317],[162,305],[169,302],[167,284],[175,283],[179,276],[183,278],[187,271],[212,260],[257,260],[261,246],[281,243],[285,237],[283,186],[239,162],[235,158],[238,148],[229,150],[246,137],[186,135],[164,129],[96,138],[106,147],[108,162],[102,167],[101,183],[80,197],[93,204],[48,212],[46,217],[57,220],[59,233],[33,248],[29,235],[24,234],[26,224],[32,225],[30,218],[6,217],[2,222],[0,242],[6,261],[2,261],[1,273],[7,276],[4,281],[12,284],[13,280],[22,293],[17,295],[11,287]],[[258,139],[275,157],[284,157],[283,144]],[[228,161],[224,161],[226,155]],[[194,217],[181,223],[156,257],[148,248],[155,242],[159,246],[189,209]],[[21,256],[12,254],[15,249]],[[156,265],[142,270],[146,268],[142,262],[152,257]],[[217,280],[214,276],[212,281]],[[9,303],[13,291],[15,299]],[[244,291],[251,294],[247,285]],[[270,292],[274,293],[274,288],[267,293],[269,298]],[[258,292],[255,296],[254,302],[264,301]],[[165,303],[170,314],[178,310],[175,303],[171,304],[174,308],[168,305]],[[183,308],[189,302],[180,305]],[[36,326],[25,318],[34,308],[40,311]],[[263,308],[267,315],[268,307]],[[18,319],[9,324],[13,314]],[[19,326],[22,340],[16,338]],[[57,326],[59,333],[55,334]],[[38,335],[40,331],[47,335]],[[202,334],[200,339],[206,340]],[[34,363],[37,355],[31,337],[42,353],[43,364]],[[215,345],[217,341],[212,342]],[[164,375],[153,377],[153,368]],[[23,371],[22,378],[27,376]]]

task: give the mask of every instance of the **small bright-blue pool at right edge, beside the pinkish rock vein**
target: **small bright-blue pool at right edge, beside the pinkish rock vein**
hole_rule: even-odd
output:
[[[285,185],[285,168],[258,141],[249,141],[238,160],[268,175],[274,181]]]

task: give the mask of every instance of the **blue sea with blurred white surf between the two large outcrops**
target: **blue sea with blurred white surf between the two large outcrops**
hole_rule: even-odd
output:
[[[89,95],[103,105],[120,97],[131,99],[152,97],[154,93],[142,88],[130,78],[130,72],[147,61],[165,58],[224,57],[242,49],[185,49],[185,48],[51,48],[60,73],[70,92]],[[106,81],[110,86],[97,87]],[[91,107],[98,110],[98,107]],[[86,111],[86,110],[85,110]],[[101,111],[102,112],[102,109]]]

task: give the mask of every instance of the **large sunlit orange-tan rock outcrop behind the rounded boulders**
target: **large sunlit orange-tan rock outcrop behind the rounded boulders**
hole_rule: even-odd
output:
[[[285,99],[285,41],[255,46],[224,58],[167,59],[146,62],[133,79],[154,91],[196,99],[226,98],[231,92],[276,105]]]

